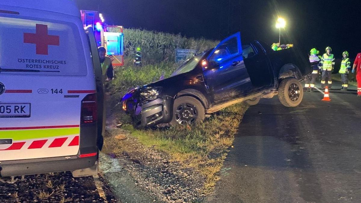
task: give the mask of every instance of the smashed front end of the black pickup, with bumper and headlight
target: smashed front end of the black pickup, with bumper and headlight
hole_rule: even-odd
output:
[[[135,128],[150,128],[171,121],[173,98],[162,94],[162,87],[138,87],[122,98],[123,110]]]

